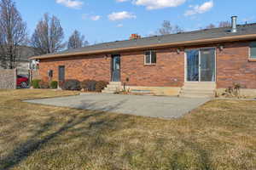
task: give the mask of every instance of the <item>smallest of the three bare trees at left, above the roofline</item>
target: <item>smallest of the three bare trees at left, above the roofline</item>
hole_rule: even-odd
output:
[[[81,35],[79,31],[75,30],[73,31],[72,36],[68,39],[67,48],[82,48],[88,44],[89,43],[84,40],[84,35]]]

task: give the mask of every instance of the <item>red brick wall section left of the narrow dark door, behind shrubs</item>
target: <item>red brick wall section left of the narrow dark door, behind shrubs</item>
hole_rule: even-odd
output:
[[[110,58],[104,55],[70,57],[62,59],[41,59],[39,71],[42,78],[48,80],[49,70],[53,70],[53,80],[58,80],[58,66],[65,65],[65,79],[110,80]]]

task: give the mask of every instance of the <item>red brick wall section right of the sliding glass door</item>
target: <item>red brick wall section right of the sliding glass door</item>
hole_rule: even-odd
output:
[[[217,50],[217,88],[240,83],[242,88],[256,88],[256,62],[249,62],[249,42],[226,43]]]

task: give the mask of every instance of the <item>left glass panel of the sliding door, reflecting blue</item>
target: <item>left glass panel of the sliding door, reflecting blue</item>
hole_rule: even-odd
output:
[[[187,81],[199,81],[199,50],[187,52]]]

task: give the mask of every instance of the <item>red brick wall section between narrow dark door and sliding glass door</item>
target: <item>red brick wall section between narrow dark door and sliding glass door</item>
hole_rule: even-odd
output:
[[[173,48],[156,50],[156,65],[144,65],[144,51],[121,54],[121,80],[128,85],[182,87],[184,54]]]

